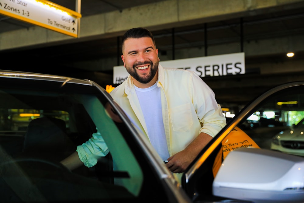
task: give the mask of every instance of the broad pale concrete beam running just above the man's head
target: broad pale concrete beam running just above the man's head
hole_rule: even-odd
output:
[[[151,31],[208,23],[246,15],[304,7],[304,0],[168,0],[81,18],[80,35],[73,38],[34,26],[0,34],[0,51],[20,47],[69,44],[121,36],[132,27]]]

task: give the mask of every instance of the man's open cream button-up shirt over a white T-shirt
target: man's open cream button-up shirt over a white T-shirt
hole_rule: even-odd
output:
[[[226,125],[213,91],[195,72],[159,65],[157,87],[161,88],[163,124],[170,156],[185,149],[200,132],[214,137]],[[110,95],[148,135],[132,76],[129,75]]]

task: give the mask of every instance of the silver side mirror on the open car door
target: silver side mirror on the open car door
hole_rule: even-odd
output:
[[[212,193],[255,203],[304,202],[304,158],[268,149],[233,150],[213,181]]]

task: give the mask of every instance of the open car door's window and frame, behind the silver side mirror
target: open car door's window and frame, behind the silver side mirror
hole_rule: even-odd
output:
[[[182,184],[192,200],[227,201],[212,195],[212,183],[223,160],[233,150],[260,148],[304,158],[303,101],[303,86],[273,90],[249,104],[229,121],[183,177]],[[242,170],[242,165],[239,169]]]

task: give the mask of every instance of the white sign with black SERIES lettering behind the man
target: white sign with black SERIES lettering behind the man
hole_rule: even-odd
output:
[[[223,76],[245,74],[245,54],[223,54],[215,56],[160,61],[165,68],[181,68],[196,72],[201,78],[206,76]],[[113,67],[113,83],[125,81],[129,73],[121,66]]]

